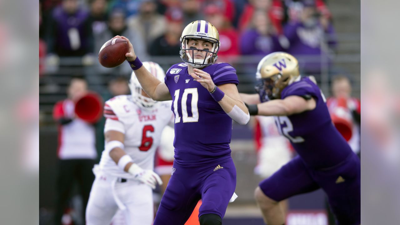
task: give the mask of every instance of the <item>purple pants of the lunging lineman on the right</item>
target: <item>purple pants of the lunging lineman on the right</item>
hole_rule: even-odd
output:
[[[319,170],[310,169],[296,156],[259,186],[275,201],[322,188],[337,223],[358,225],[361,223],[360,173],[360,159],[354,153],[334,167]]]

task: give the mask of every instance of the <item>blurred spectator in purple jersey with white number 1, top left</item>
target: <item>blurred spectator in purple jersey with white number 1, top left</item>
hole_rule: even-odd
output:
[[[48,21],[48,53],[83,56],[93,52],[92,40],[88,12],[80,6],[78,0],[62,0]]]

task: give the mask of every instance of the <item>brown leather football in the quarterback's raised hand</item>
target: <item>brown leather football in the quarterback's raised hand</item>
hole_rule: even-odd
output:
[[[125,54],[129,52],[128,42],[122,38],[112,38],[100,48],[99,62],[102,66],[112,68],[125,61]]]

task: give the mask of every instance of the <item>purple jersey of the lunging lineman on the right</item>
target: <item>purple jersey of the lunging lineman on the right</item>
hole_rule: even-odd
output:
[[[303,77],[284,88],[281,98],[290,95],[310,96],[316,100],[313,110],[275,117],[278,130],[290,140],[302,160],[314,169],[344,161],[352,150],[332,124],[320,88],[310,78]]]

